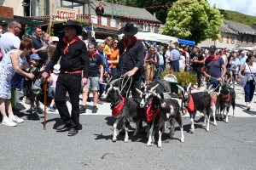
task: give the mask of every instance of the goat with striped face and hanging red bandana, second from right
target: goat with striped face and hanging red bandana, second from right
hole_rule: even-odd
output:
[[[203,127],[206,127],[207,122],[207,132],[209,129],[209,123],[210,123],[210,111],[211,111],[211,95],[207,94],[207,92],[198,92],[194,94],[189,94],[189,88],[191,86],[191,82],[189,83],[188,87],[180,87],[177,85],[177,87],[181,90],[183,100],[182,100],[182,107],[183,103],[184,106],[189,111],[190,115],[190,122],[191,122],[191,133],[195,133],[195,127],[194,127],[194,119],[196,115],[196,111],[201,111],[204,113],[204,123]],[[188,105],[189,104],[189,105]]]

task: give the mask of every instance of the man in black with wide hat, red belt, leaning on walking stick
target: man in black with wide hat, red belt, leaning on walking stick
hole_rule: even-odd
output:
[[[55,105],[59,110],[63,124],[57,127],[57,132],[70,128],[68,136],[78,133],[79,129],[79,93],[81,86],[87,83],[89,57],[85,43],[79,39],[82,27],[76,21],[67,20],[64,26],[65,37],[58,42],[55,53],[46,66],[42,77],[46,81],[49,70],[61,58],[60,75],[56,82]],[[82,77],[82,71],[84,76]],[[71,116],[67,110],[66,93],[68,92],[72,104]]]

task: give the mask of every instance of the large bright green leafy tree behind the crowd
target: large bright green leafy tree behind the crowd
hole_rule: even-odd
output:
[[[169,8],[166,26],[161,34],[188,39],[199,43],[212,38],[219,39],[218,27],[224,21],[218,8],[206,0],[178,0]]]

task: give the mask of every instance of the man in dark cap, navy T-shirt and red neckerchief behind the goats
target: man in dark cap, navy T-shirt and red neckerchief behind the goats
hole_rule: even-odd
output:
[[[208,79],[207,88],[212,84],[212,88],[216,88],[226,74],[224,59],[220,57],[216,51],[217,48],[214,45],[209,48],[209,56],[205,60],[205,64],[203,66],[203,74]],[[223,71],[221,69],[223,69]],[[216,88],[215,92],[219,92],[219,87]]]

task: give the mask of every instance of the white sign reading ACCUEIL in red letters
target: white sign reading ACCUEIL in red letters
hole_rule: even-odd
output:
[[[56,7],[56,21],[76,20],[77,10],[73,8]]]

